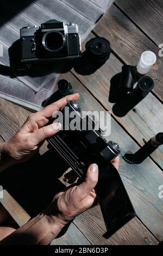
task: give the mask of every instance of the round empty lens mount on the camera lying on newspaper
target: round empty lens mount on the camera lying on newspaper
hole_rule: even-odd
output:
[[[49,52],[58,52],[65,46],[65,36],[59,31],[49,31],[42,38],[42,45]]]

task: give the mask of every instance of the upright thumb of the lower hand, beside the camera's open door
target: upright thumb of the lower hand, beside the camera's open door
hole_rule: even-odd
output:
[[[86,173],[86,178],[84,181],[77,186],[77,197],[83,200],[85,197],[89,196],[90,192],[95,188],[98,181],[98,166],[93,163],[89,166]]]

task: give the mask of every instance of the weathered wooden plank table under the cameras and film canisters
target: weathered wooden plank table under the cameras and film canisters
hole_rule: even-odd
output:
[[[147,5],[146,0],[117,0],[99,21],[89,38],[97,35],[104,36],[111,42],[112,53],[108,62],[90,76],[80,76],[73,70],[66,75],[61,75],[62,78],[66,78],[72,83],[76,92],[80,93],[79,103],[84,109],[111,111],[112,104],[108,101],[111,77],[121,71],[121,66],[124,63],[136,65],[140,54],[145,50],[152,50],[158,56],[158,45],[163,43],[162,10],[161,1],[150,0]],[[143,145],[143,138],[148,141],[149,138],[162,131],[162,63],[163,57],[158,57],[150,72],[155,81],[153,92],[149,93],[146,99],[125,117],[117,118],[112,114],[110,139],[120,144],[122,155],[126,151],[135,152]],[[28,114],[29,111],[26,109],[0,99],[1,142],[7,141],[14,135]],[[46,144],[44,144],[41,154],[46,150]],[[66,233],[55,239],[52,244],[156,245],[162,241],[163,199],[158,197],[159,186],[163,185],[162,152],[163,147],[160,147],[139,165],[127,164],[121,157],[120,174],[137,217],[118,230],[110,239],[105,240],[102,236],[105,230],[103,218],[99,206],[96,206],[78,216]],[[21,179],[26,178],[22,169]],[[30,187],[29,177],[28,180]],[[13,180],[13,182],[15,181]],[[19,184],[21,184],[21,180]],[[20,190],[20,193],[23,194],[24,191]],[[30,192],[30,196],[31,194],[32,192]],[[46,197],[46,191],[44,195]],[[19,225],[29,220],[29,212],[21,207],[21,203],[17,202],[5,187],[2,203]]]

